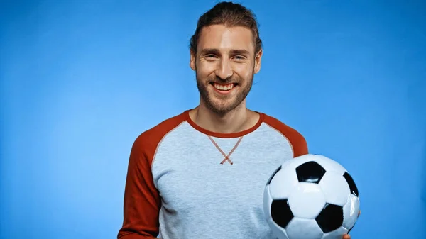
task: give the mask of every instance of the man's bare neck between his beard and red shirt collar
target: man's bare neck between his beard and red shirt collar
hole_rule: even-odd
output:
[[[190,111],[190,118],[205,130],[215,133],[237,133],[256,125],[259,115],[247,109],[245,104],[224,115],[218,115],[200,104]]]

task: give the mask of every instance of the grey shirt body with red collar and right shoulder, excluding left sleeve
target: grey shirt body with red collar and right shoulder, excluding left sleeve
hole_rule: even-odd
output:
[[[186,116],[160,140],[151,165],[159,237],[275,238],[263,216],[263,189],[277,167],[306,151],[302,135],[263,114],[234,135],[207,132]]]

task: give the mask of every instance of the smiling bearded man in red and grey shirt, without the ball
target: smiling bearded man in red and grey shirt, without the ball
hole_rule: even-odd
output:
[[[190,40],[200,104],[135,140],[118,238],[275,238],[263,189],[284,160],[307,154],[307,144],[246,108],[261,57],[257,23],[244,6],[222,2],[200,17]]]

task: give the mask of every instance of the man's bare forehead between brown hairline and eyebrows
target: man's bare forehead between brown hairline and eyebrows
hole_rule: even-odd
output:
[[[248,50],[254,52],[253,34],[241,26],[213,25],[202,29],[198,50],[214,48],[220,51]]]

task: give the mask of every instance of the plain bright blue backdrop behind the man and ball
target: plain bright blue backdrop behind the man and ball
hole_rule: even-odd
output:
[[[424,238],[425,1],[241,1],[249,108],[354,176],[352,238]],[[195,107],[189,38],[216,1],[1,1],[0,238],[116,238],[131,144]]]

